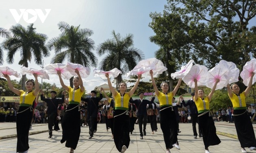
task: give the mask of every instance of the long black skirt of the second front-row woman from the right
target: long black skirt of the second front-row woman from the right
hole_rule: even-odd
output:
[[[200,114],[202,113],[199,113],[198,115]],[[209,116],[209,113],[198,117],[198,124],[202,130],[205,149],[208,149],[209,146],[214,146],[221,142],[216,134],[216,127],[213,117]]]

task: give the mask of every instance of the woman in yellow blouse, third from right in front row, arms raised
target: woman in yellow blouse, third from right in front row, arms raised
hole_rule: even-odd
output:
[[[171,99],[175,96],[178,88],[180,87],[181,79],[179,79],[176,87],[172,92],[168,93],[169,85],[166,82],[161,83],[162,92],[158,91],[156,82],[153,77],[153,71],[150,70],[152,84],[156,93],[156,96],[160,103],[160,126],[163,131],[165,140],[166,153],[170,153],[170,149],[175,147],[180,150],[177,138],[177,123],[176,114],[172,107]]]

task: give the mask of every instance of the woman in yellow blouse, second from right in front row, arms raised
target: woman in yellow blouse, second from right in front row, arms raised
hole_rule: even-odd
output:
[[[212,99],[213,93],[216,89],[217,83],[219,79],[216,79],[215,84],[213,85],[213,89],[210,91],[210,94],[204,98],[204,90],[198,89],[197,87],[197,79],[194,79],[195,82],[195,104],[197,106],[198,111],[198,124],[201,127],[204,141],[205,153],[210,153],[208,147],[217,145],[221,141],[216,134],[216,127],[214,125],[213,117],[210,116],[210,107],[209,103]]]

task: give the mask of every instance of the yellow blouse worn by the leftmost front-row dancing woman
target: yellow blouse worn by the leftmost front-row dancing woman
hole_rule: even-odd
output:
[[[33,95],[33,91],[25,92],[20,90],[20,106],[32,106],[36,96]]]

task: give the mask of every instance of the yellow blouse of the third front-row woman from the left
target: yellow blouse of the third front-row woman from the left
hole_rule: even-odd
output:
[[[117,92],[117,91],[116,91]],[[115,95],[115,110],[128,110],[129,109],[130,92],[124,94],[123,103],[121,104],[121,94],[117,92]]]

